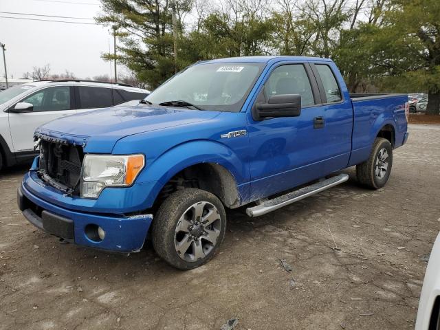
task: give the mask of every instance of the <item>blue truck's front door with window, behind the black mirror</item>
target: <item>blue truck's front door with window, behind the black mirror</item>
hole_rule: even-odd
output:
[[[322,176],[325,160],[325,108],[308,63],[272,69],[256,102],[272,95],[300,94],[298,117],[249,118],[252,200],[273,195]],[[256,103],[255,102],[255,103]]]

